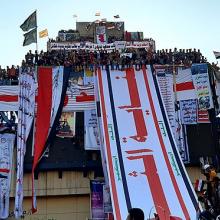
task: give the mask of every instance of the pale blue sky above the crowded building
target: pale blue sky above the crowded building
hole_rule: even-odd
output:
[[[113,20],[120,15],[127,31],[143,31],[156,41],[157,49],[197,48],[216,61],[213,50],[220,51],[220,0],[1,0],[0,65],[20,64],[35,44],[23,47],[20,25],[37,9],[38,31],[48,29],[55,38],[61,29],[74,29],[77,21],[100,18]],[[39,40],[39,50],[46,50],[47,38]]]

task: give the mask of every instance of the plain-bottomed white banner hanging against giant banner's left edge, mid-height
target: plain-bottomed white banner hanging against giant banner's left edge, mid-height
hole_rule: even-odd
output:
[[[100,150],[96,109],[84,111],[85,150]]]

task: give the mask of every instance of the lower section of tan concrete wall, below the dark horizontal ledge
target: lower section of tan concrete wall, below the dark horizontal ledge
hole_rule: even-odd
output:
[[[11,217],[14,201],[11,201]],[[48,196],[37,198],[38,211],[31,214],[31,198],[24,200],[24,217],[25,220],[86,220],[90,218],[90,196]]]

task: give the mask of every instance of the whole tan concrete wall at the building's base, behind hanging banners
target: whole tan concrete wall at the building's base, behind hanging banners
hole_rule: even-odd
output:
[[[192,184],[203,178],[199,167],[187,167]],[[13,175],[14,176],[14,175]],[[86,177],[82,172],[64,171],[62,178],[58,172],[39,173],[35,180],[38,212],[31,214],[31,174],[24,178],[24,219],[25,220],[86,220],[90,218],[90,179],[93,172]],[[14,219],[15,184],[12,179],[10,218]]]

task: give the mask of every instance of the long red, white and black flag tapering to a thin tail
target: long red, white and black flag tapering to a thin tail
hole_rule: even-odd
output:
[[[62,66],[38,68],[38,105],[35,123],[34,161],[32,167],[33,213],[37,211],[34,189],[34,171],[45,147],[55,134],[55,128],[64,104],[69,73],[70,68],[64,68]]]

